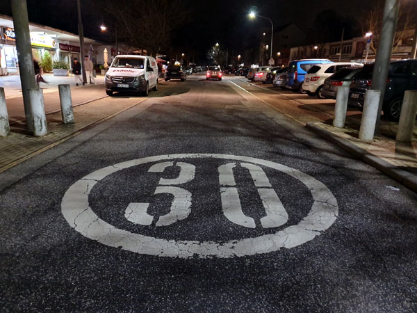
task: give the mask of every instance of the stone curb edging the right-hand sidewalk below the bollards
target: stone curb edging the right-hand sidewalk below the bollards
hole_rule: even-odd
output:
[[[383,159],[366,152],[366,150],[363,150],[361,147],[358,147],[357,145],[354,145],[353,143],[350,143],[349,141],[332,134],[326,129],[322,129],[322,127],[318,127],[315,122],[308,122],[306,124],[306,128],[314,131],[316,134],[349,152],[357,159],[362,160],[370,166],[373,166],[379,170],[379,172],[384,173],[385,175],[391,177],[400,184],[417,193],[417,175],[391,165],[387,161],[384,161]]]

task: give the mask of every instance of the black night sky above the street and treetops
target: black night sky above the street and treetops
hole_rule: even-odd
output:
[[[116,0],[117,1],[117,0]],[[338,15],[357,18],[363,10],[383,0],[171,0],[183,1],[191,13],[190,22],[176,33],[173,46],[204,56],[215,42],[230,50],[241,50],[258,38],[261,27],[270,27],[265,19],[252,21],[248,11],[254,7],[260,15],[270,17],[276,27],[295,22],[304,31],[311,29],[318,13],[335,10]],[[103,40],[99,25],[104,17],[94,4],[100,0],[81,0],[85,36]],[[78,33],[76,0],[27,0],[31,22]],[[10,1],[0,1],[0,13],[11,15]]]

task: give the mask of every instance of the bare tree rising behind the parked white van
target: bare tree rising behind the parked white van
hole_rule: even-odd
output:
[[[178,1],[106,0],[105,8],[117,22],[121,41],[152,56],[170,45],[175,29],[188,19],[188,10]]]

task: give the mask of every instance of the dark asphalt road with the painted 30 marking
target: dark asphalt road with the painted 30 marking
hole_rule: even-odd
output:
[[[417,312],[417,195],[242,88],[163,82],[0,174],[1,312]]]

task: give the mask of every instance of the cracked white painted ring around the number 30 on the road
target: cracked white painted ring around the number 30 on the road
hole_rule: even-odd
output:
[[[215,158],[245,161],[274,168],[300,180],[309,188],[313,196],[313,205],[309,214],[297,225],[286,227],[275,234],[265,234],[247,239],[231,240],[224,243],[215,241],[174,241],[158,239],[120,230],[101,220],[89,206],[88,195],[92,188],[104,177],[119,170],[171,159]],[[83,236],[103,243],[106,246],[121,247],[145,255],[160,257],[242,257],[277,251],[280,248],[294,248],[311,241],[320,232],[327,230],[338,216],[338,204],[329,188],[310,175],[288,166],[229,154],[167,154],[147,157],[101,168],[75,182],[65,193],[61,209],[67,222]]]

